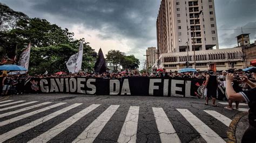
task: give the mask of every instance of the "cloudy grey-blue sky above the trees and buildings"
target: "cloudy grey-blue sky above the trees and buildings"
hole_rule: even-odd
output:
[[[207,0],[203,0],[207,1]],[[44,18],[84,37],[104,54],[118,49],[143,62],[145,49],[156,47],[156,19],[160,0],[0,0],[29,17]],[[234,47],[235,37],[251,33],[256,40],[255,0],[215,0],[220,48]],[[238,30],[234,30],[238,29]]]

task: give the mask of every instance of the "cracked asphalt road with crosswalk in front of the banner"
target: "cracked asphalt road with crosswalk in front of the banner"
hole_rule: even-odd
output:
[[[218,105],[174,97],[10,96],[0,101],[0,142],[225,142],[240,111]]]

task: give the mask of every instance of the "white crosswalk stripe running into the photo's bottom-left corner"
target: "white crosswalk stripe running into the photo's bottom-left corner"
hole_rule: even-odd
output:
[[[23,125],[23,126],[20,126],[20,127],[17,127],[9,132],[6,132],[6,133],[3,133],[0,135],[0,142],[3,142],[3,141],[6,141],[12,137],[15,137],[16,135],[20,134],[20,133],[23,133],[25,131],[28,131],[30,128],[33,128],[37,125],[40,125],[42,123],[44,123],[45,121],[48,121],[66,111],[69,111],[70,109],[73,109],[73,108],[76,108],[77,106],[81,105],[82,103],[76,103],[76,104],[73,104],[73,105],[70,105],[66,108],[63,108],[63,109],[60,109],[56,112],[53,112],[51,113],[50,115],[47,115],[47,116],[44,116],[42,118],[39,118],[35,121],[32,121],[26,125]]]

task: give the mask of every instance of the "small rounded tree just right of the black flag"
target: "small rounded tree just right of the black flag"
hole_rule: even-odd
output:
[[[123,61],[125,53],[118,50],[110,50],[106,54],[106,62],[109,63],[114,68],[114,72],[117,71],[117,66],[120,66],[121,61]]]

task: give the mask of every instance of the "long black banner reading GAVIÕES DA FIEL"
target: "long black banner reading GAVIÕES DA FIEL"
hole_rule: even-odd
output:
[[[31,78],[26,81],[25,88],[32,93],[191,97],[204,94],[204,81],[205,79],[171,77],[55,77]]]

